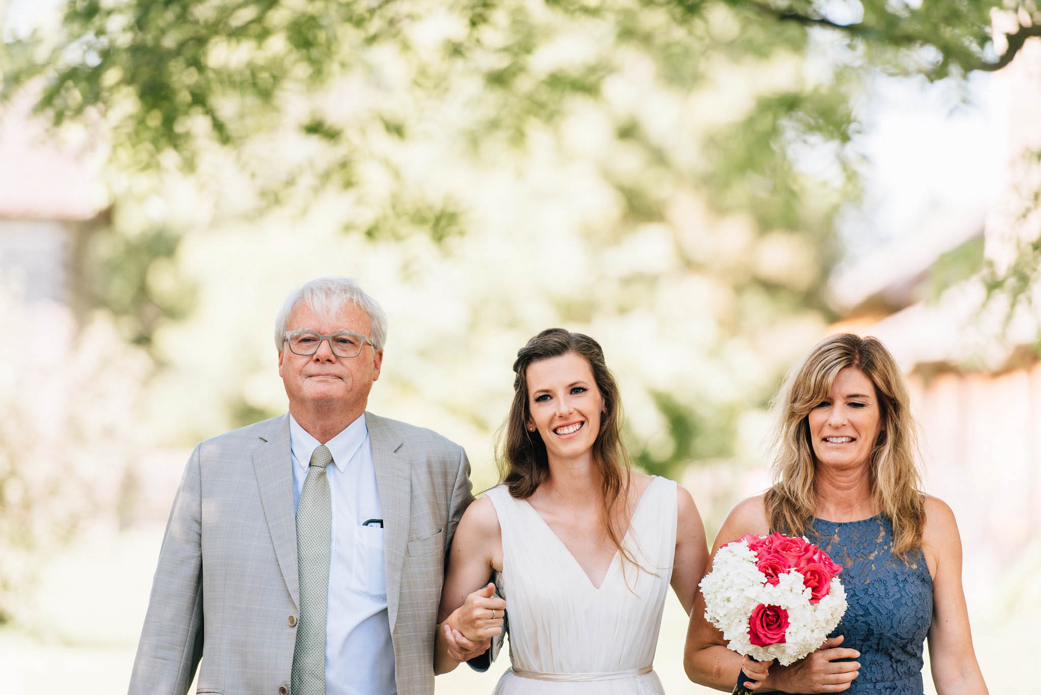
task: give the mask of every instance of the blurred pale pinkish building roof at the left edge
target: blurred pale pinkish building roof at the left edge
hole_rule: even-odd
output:
[[[0,218],[80,221],[107,204],[96,148],[66,146],[19,99],[0,111]]]

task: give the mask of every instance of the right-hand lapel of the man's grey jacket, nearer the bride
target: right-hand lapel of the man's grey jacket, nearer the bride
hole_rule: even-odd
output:
[[[412,473],[410,462],[400,453],[402,440],[393,426],[383,418],[365,413],[369,441],[373,447],[376,486],[383,510],[384,569],[387,579],[387,616],[390,631],[398,619],[398,598],[401,594],[401,568],[405,562],[408,539],[409,505]]]

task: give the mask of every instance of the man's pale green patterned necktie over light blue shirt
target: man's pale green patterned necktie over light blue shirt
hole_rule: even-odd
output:
[[[297,559],[300,563],[300,620],[293,651],[293,695],[325,695],[325,630],[329,605],[329,547],[332,495],[326,466],[329,449],[319,446],[297,505]]]

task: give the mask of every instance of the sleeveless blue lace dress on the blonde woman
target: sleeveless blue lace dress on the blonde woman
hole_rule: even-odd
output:
[[[861,521],[813,519],[806,538],[842,565],[846,609],[832,637],[860,651],[848,695],[921,695],[921,651],[933,620],[933,579],[921,548],[894,556],[885,515]]]

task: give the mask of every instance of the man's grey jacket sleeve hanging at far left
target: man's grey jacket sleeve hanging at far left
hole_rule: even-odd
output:
[[[200,444],[167,522],[129,695],[184,695],[202,656]]]

